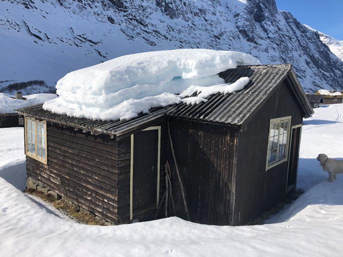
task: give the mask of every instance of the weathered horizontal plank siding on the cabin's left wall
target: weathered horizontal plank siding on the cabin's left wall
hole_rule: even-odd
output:
[[[118,180],[130,166],[125,142],[73,128],[47,125],[48,164],[27,157],[27,173],[43,186],[113,223],[118,223]],[[125,208],[125,206],[124,206]]]

